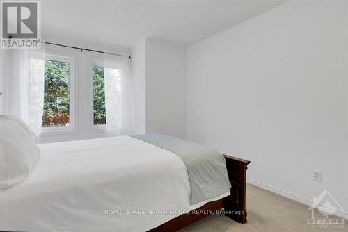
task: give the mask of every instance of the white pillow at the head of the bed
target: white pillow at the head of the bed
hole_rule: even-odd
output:
[[[28,126],[13,116],[0,116],[0,188],[24,181],[40,156]]]

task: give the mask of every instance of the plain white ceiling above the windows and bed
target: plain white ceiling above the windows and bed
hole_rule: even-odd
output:
[[[285,0],[43,0],[42,37],[131,47],[141,38],[194,44]]]

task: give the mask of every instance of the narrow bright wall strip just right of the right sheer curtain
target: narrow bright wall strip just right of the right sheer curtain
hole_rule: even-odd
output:
[[[132,127],[134,134],[145,133],[145,38],[132,47]]]

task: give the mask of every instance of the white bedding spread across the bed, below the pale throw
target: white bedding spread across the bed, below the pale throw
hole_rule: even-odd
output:
[[[0,231],[148,231],[207,202],[190,205],[178,156],[129,136],[40,149],[29,178],[0,190]]]

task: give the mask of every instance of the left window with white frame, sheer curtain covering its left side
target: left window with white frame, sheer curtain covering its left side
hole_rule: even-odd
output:
[[[29,110],[34,131],[74,130],[74,57],[29,53]]]

